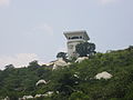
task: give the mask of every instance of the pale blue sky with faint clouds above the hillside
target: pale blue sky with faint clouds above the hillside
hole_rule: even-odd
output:
[[[0,0],[0,68],[49,62],[63,31],[86,30],[96,51],[133,44],[133,0]]]

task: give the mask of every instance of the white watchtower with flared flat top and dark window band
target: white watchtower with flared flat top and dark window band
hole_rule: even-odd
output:
[[[88,42],[90,40],[86,31],[68,31],[64,32],[64,36],[68,40],[68,57],[71,59],[78,57],[75,52],[75,46],[81,42]]]

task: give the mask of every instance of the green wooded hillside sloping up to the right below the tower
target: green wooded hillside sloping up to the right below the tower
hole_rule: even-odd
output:
[[[100,72],[111,79],[95,79]],[[35,86],[39,80],[47,83]],[[9,97],[18,100],[23,96],[52,94],[33,100],[132,100],[133,99],[133,47],[124,50],[96,53],[81,63],[72,63],[52,70],[52,67],[30,62],[25,68],[7,67],[0,71],[0,100]]]

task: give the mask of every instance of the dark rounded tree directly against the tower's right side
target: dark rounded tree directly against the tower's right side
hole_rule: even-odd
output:
[[[80,54],[80,57],[88,57],[90,54],[95,53],[95,44],[91,42],[82,42],[75,46],[75,52]]]

